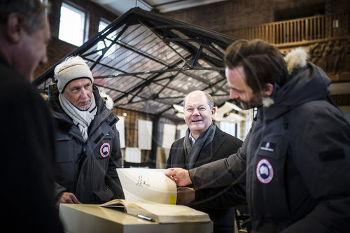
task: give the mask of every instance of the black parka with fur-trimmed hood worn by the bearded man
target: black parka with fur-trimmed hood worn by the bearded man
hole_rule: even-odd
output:
[[[314,64],[295,68],[237,155],[190,170],[195,189],[246,175],[253,232],[349,232],[350,125],[327,100],[329,84]]]

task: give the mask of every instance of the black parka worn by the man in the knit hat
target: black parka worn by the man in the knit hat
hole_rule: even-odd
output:
[[[57,124],[56,192],[72,192],[83,204],[101,204],[123,197],[116,168],[121,167],[117,116],[104,106],[97,87],[97,113],[85,143],[78,127],[59,104],[57,85],[51,85],[48,103]]]

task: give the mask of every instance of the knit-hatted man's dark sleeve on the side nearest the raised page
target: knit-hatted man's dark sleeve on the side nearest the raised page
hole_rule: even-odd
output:
[[[108,185],[112,192],[114,199],[123,199],[123,188],[120,184],[117,168],[122,167],[122,153],[120,151],[120,141],[119,132],[116,126],[113,126],[113,132],[115,136],[113,137],[113,147],[111,151],[111,157],[109,159],[109,167],[106,174],[106,185]]]

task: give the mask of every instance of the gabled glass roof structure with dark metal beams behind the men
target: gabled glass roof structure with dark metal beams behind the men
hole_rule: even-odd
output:
[[[223,57],[234,41],[132,8],[66,57],[79,55],[87,61],[94,85],[109,94],[114,106],[174,118],[173,105],[193,90],[211,94],[216,106],[230,99]],[[38,89],[46,92],[55,82],[57,64],[34,80]]]

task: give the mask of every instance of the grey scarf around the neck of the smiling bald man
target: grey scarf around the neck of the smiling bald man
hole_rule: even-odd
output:
[[[214,139],[216,126],[211,124],[206,132],[200,134],[198,139],[195,141],[193,146],[190,141],[190,129],[186,130],[185,140],[183,140],[183,148],[185,149],[186,157],[186,169],[193,169],[195,162],[197,161],[198,155],[203,148],[205,148]]]

